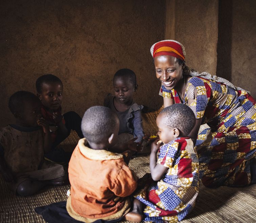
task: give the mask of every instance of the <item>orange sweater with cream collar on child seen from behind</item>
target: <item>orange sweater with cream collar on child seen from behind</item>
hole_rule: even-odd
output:
[[[85,218],[102,218],[119,212],[137,187],[136,176],[123,155],[94,150],[81,139],[69,162],[71,206]]]

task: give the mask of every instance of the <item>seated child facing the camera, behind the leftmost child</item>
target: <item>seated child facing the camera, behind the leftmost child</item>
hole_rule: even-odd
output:
[[[71,152],[64,152],[56,148],[70,134],[71,129],[75,130],[80,138],[83,138],[81,131],[81,117],[73,111],[62,115],[61,103],[63,100],[63,84],[61,80],[52,75],[46,74],[36,81],[37,96],[42,102],[41,112],[43,118],[50,125],[52,138],[52,149],[45,158],[54,162],[67,162]]]

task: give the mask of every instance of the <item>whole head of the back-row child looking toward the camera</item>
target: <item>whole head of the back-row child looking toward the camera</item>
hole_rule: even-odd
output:
[[[43,75],[37,79],[36,88],[37,96],[48,110],[55,111],[60,107],[63,84],[58,77],[52,74]]]

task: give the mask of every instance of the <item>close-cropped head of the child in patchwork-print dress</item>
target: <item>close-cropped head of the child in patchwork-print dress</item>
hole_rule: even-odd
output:
[[[194,112],[184,104],[164,108],[156,118],[158,134],[163,143],[187,137],[195,125]]]

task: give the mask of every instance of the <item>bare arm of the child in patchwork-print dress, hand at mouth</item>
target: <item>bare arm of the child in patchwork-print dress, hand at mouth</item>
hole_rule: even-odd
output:
[[[154,142],[152,142],[151,154],[150,154],[150,158],[149,158],[151,177],[155,181],[158,181],[159,179],[161,179],[162,176],[164,175],[164,173],[166,172],[166,170],[168,169],[167,167],[156,163],[156,161],[157,161],[156,154],[161,145],[161,144],[157,145],[158,140],[159,139],[156,139]]]

